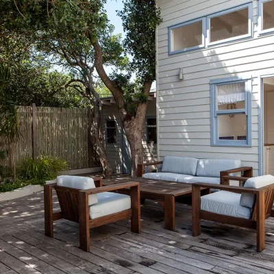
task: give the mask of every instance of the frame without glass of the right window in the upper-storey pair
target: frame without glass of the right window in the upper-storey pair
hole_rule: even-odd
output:
[[[210,42],[210,19],[214,18],[214,17],[221,16],[223,14],[236,12],[237,10],[242,10],[244,8],[248,8],[248,14],[249,14],[249,20],[248,20],[249,32],[248,32],[248,34],[236,36],[236,37],[232,37],[232,38],[227,38],[227,39],[223,39],[223,40],[219,40],[219,41],[215,41],[215,42]],[[223,10],[221,12],[210,14],[209,16],[206,17],[206,21],[207,21],[207,24],[206,24],[207,25],[206,45],[207,46],[219,45],[219,44],[223,44],[226,42],[232,42],[232,41],[236,41],[236,40],[251,38],[252,37],[252,3],[247,3],[245,5],[239,5],[235,8],[230,8],[228,10]]]

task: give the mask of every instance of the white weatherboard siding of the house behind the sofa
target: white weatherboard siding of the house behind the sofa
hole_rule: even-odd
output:
[[[247,0],[158,0],[158,155],[240,159],[258,174],[259,79],[274,71],[274,36],[258,36],[258,1],[253,0],[253,38],[169,55],[168,27],[220,12]],[[179,80],[183,68],[184,80]],[[210,80],[252,78],[252,147],[210,146]]]

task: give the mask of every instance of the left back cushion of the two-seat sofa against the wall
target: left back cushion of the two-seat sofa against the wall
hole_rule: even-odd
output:
[[[162,172],[196,175],[198,159],[166,156]]]

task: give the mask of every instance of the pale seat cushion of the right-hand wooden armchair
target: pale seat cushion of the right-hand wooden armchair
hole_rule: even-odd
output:
[[[250,208],[240,205],[240,194],[223,190],[202,196],[201,210],[243,219],[250,219],[252,214]]]

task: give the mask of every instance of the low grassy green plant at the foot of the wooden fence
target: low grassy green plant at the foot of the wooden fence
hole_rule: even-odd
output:
[[[18,176],[23,179],[51,180],[58,176],[60,171],[68,169],[65,160],[60,158],[45,156],[36,161],[29,158],[23,160],[18,166]]]

